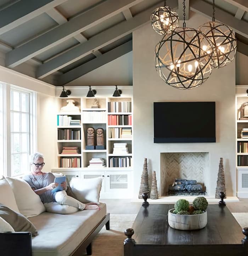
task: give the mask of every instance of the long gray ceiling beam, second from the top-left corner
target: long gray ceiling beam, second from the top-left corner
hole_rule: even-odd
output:
[[[104,1],[83,14],[7,53],[5,65],[13,68],[141,1],[143,0]]]

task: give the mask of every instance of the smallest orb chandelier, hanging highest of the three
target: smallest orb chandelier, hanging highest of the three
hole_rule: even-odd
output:
[[[175,10],[166,6],[166,1],[164,1],[164,6],[158,7],[152,12],[151,22],[153,30],[163,35],[179,26],[179,16]]]

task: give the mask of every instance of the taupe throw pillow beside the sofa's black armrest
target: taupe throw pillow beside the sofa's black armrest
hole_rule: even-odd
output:
[[[35,226],[24,215],[3,204],[0,204],[0,217],[9,223],[16,232],[31,232],[32,236],[37,235]]]

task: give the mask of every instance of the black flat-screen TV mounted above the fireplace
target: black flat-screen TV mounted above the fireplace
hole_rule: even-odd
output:
[[[215,102],[153,102],[154,143],[216,142]]]

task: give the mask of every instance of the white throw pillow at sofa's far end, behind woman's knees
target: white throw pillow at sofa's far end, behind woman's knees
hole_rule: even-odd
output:
[[[89,179],[72,178],[70,186],[78,201],[82,203],[99,203],[102,177]]]

